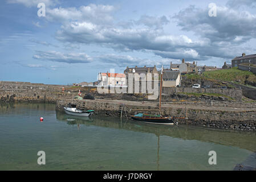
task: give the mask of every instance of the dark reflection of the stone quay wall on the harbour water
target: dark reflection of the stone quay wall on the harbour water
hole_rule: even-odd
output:
[[[132,120],[108,117],[76,117],[60,112],[56,112],[59,121],[65,121],[68,125],[94,125],[100,127],[111,127],[114,129],[124,129],[142,133],[155,134],[181,138],[184,140],[199,140],[201,142],[211,142],[225,146],[235,146],[249,151],[256,151],[256,134],[252,132],[239,132],[231,130],[204,129],[192,126],[162,126],[142,123]]]

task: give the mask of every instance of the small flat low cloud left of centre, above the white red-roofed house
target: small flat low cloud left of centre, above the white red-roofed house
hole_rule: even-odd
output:
[[[92,57],[86,55],[86,53],[62,53],[57,51],[36,51],[33,58],[69,64],[90,63],[92,61]]]

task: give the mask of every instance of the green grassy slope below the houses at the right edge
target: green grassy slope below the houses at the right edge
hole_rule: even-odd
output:
[[[221,81],[238,82],[246,85],[246,82],[256,83],[256,75],[249,71],[239,70],[237,67],[230,69],[220,69],[216,71],[207,71],[203,75],[208,78],[214,78]]]

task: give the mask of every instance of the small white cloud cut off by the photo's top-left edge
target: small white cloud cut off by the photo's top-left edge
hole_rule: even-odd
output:
[[[46,6],[54,6],[59,4],[58,0],[7,0],[7,3],[17,3],[25,5],[26,7],[36,6],[39,3],[44,3]]]

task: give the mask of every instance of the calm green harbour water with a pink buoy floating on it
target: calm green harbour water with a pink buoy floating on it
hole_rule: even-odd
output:
[[[54,104],[0,105],[0,170],[233,170],[256,167],[255,151],[256,133],[72,117]]]

